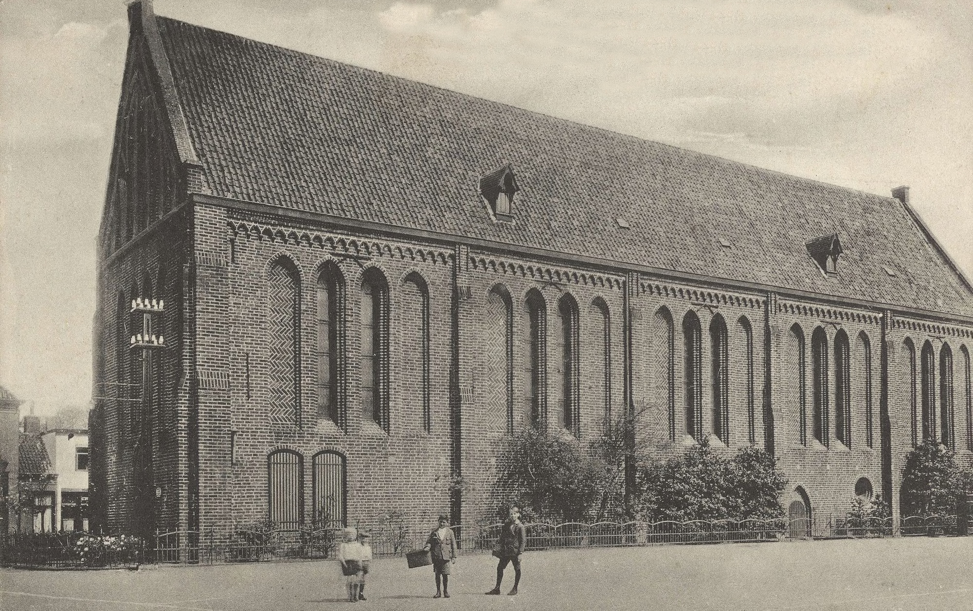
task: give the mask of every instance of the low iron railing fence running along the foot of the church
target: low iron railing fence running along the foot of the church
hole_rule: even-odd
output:
[[[451,526],[460,554],[489,554],[503,524]],[[525,524],[528,551],[773,542],[784,539],[828,539],[955,535],[955,516],[911,516],[898,529],[891,518],[817,517],[788,520],[600,521]],[[401,557],[421,548],[428,526],[386,524],[371,529],[375,557]],[[299,529],[215,528],[206,531],[157,532],[147,541],[130,535],[84,532],[8,535],[0,540],[0,563],[40,567],[125,566],[140,563],[214,564],[335,557],[341,527]],[[86,543],[88,544],[86,546]],[[87,548],[87,549],[86,549]]]

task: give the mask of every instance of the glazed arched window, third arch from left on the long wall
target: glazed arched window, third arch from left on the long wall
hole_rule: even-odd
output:
[[[388,432],[388,283],[377,268],[362,277],[362,419]]]

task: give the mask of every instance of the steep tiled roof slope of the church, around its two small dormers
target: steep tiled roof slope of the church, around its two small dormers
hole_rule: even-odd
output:
[[[973,295],[896,199],[158,24],[216,196],[973,315]],[[521,189],[512,224],[493,222],[479,195],[506,163]],[[844,247],[829,277],[806,246],[827,234]]]

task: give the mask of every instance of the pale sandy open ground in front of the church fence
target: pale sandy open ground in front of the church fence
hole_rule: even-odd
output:
[[[430,567],[379,558],[350,603],[334,561],[0,569],[0,609],[835,609],[973,611],[973,537],[800,541],[530,552],[517,596],[486,596],[495,560],[460,557],[449,599]],[[508,567],[503,592],[513,584]]]

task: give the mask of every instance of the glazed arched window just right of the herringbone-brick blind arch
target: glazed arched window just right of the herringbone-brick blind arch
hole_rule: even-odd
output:
[[[329,264],[317,278],[317,417],[346,431],[344,338],[344,279]]]

